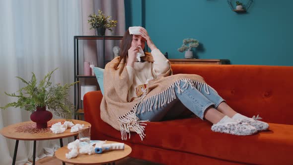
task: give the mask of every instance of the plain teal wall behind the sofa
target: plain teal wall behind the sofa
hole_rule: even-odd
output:
[[[201,43],[194,50],[200,59],[293,66],[292,6],[293,0],[254,0],[248,12],[239,14],[226,0],[125,0],[126,26],[146,27],[172,59],[184,58],[177,51],[184,38],[195,38]]]

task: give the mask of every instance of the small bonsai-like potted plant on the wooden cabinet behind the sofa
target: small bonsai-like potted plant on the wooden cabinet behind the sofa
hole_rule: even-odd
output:
[[[199,42],[196,39],[193,38],[187,38],[183,40],[183,44],[180,48],[178,48],[177,50],[179,52],[185,52],[185,58],[186,59],[192,59],[193,58],[193,53],[191,51],[192,48],[196,48],[198,47]]]

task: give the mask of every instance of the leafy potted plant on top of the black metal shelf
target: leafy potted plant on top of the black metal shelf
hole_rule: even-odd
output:
[[[104,36],[106,29],[112,31],[111,27],[115,27],[117,20],[111,20],[111,16],[104,15],[103,11],[98,10],[98,15],[95,13],[88,15],[90,18],[87,22],[90,24],[90,29],[96,29],[96,35]]]

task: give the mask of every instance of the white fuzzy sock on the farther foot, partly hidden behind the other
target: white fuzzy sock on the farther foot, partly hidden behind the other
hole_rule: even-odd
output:
[[[255,127],[258,131],[263,131],[269,129],[269,124],[265,123],[263,121],[259,121],[257,119],[252,119],[249,117],[246,117],[244,115],[241,115],[240,113],[236,113],[232,119],[241,122],[241,123],[248,123],[251,126]]]

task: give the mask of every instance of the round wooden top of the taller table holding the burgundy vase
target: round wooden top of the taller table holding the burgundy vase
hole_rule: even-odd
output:
[[[37,129],[36,123],[33,121],[26,121],[22,123],[12,124],[0,130],[0,134],[9,139],[15,140],[50,140],[61,139],[70,136],[78,135],[78,132],[70,132],[67,129],[61,134],[54,134],[50,128],[51,125],[58,122],[64,122],[65,119],[52,119],[48,122],[48,128]],[[82,120],[70,120],[73,124],[84,124],[84,127],[91,126],[90,123]]]

